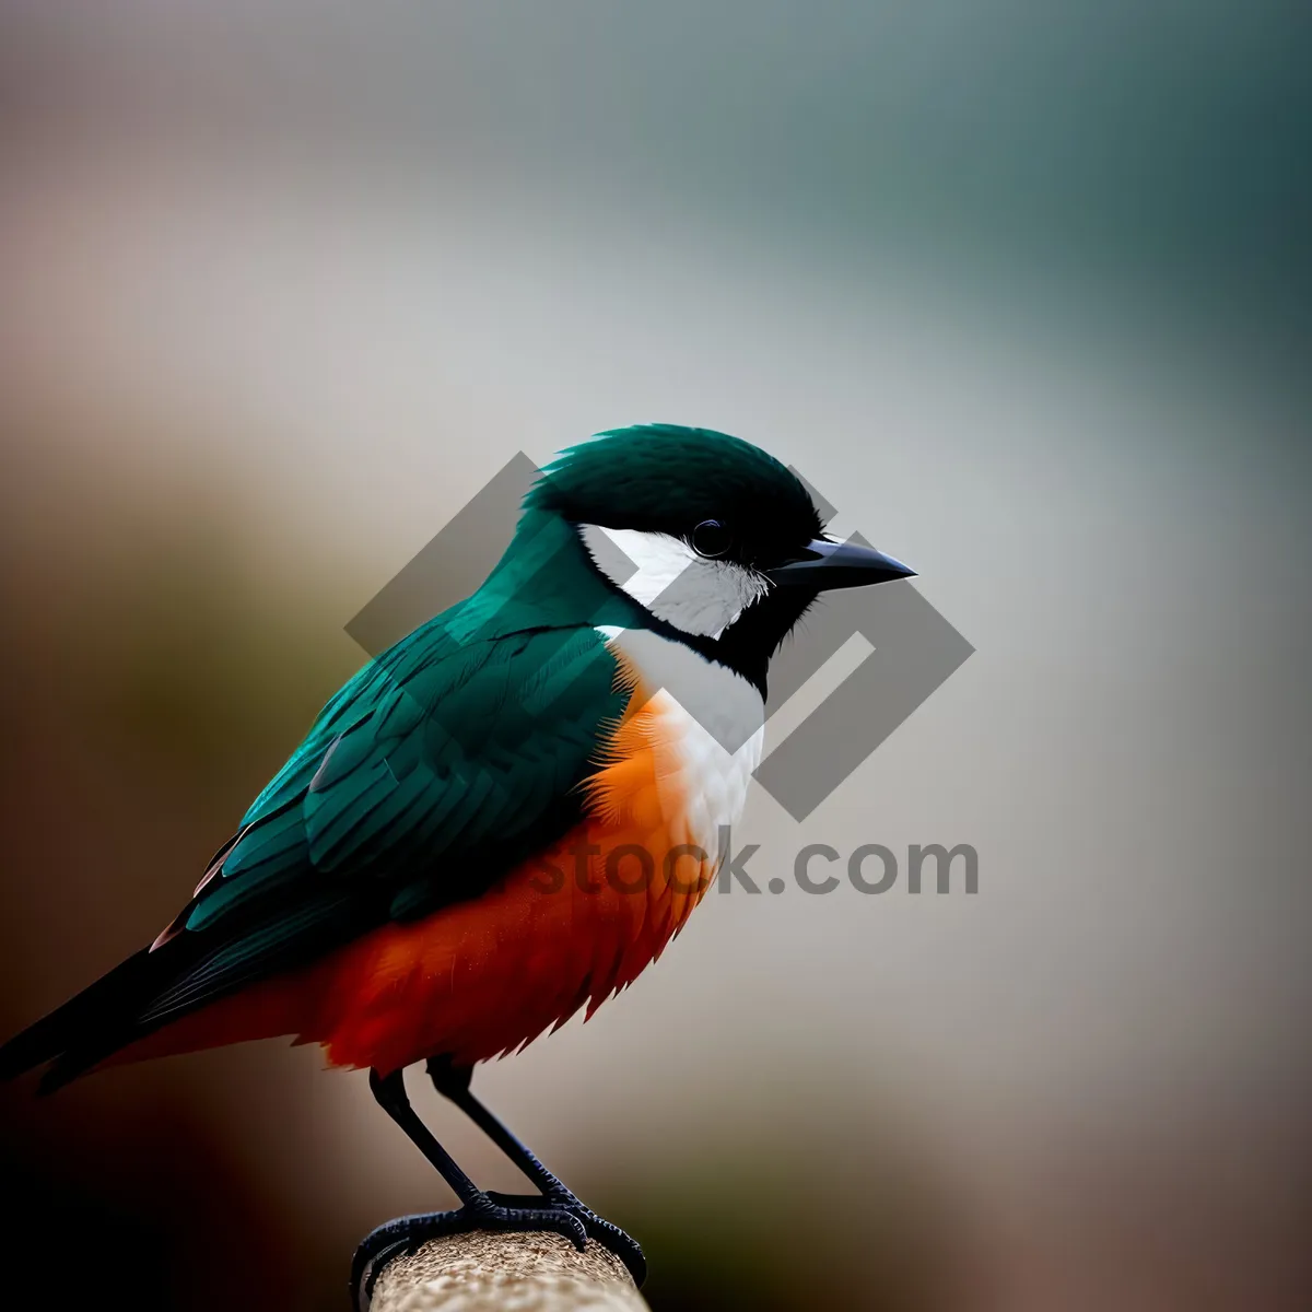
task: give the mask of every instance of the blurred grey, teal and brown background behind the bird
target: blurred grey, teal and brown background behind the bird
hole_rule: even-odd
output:
[[[720,428],[977,648],[753,795],[757,880],[979,893],[711,897],[483,1093],[656,1312],[1308,1305],[1309,17],[0,0],[0,1029],[172,917],[510,455]],[[0,1098],[14,1307],[341,1308],[447,1203],[281,1042]]]

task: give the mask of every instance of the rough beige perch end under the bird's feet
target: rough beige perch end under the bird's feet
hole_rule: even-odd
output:
[[[472,1231],[383,1267],[370,1312],[649,1312],[611,1252],[564,1236]]]

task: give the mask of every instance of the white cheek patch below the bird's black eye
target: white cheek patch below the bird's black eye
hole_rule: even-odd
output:
[[[597,523],[583,523],[579,533],[593,563],[617,588],[685,634],[719,636],[770,589],[754,569],[732,560],[708,560],[668,533]],[[615,571],[615,550],[630,563],[631,573]]]

